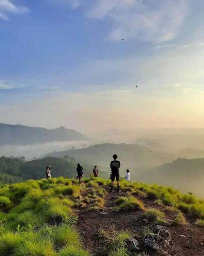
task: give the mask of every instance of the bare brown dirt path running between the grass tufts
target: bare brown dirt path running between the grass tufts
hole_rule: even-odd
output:
[[[103,211],[84,210],[79,211],[79,221],[77,229],[82,236],[84,247],[95,254],[102,246],[100,242],[94,239],[95,234],[99,230],[104,230],[109,234],[115,231],[128,230],[133,236],[142,237],[146,227],[151,228],[152,223],[145,224],[143,222],[143,212],[140,210],[132,212],[114,212],[114,202],[120,196],[127,195],[126,192],[109,193],[105,198],[105,206]],[[146,208],[158,208],[165,210],[168,219],[173,218],[175,213],[167,211],[164,206],[159,206],[153,200],[141,198]],[[167,251],[171,256],[204,256],[204,228],[199,228],[194,224],[183,226],[168,227],[173,243]],[[158,255],[157,253],[151,254]]]

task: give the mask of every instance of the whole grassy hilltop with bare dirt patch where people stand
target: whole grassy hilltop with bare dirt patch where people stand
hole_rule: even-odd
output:
[[[172,188],[124,180],[120,194],[108,193],[109,185],[101,178],[78,184],[60,177],[4,186],[0,255],[202,255],[204,200]],[[155,225],[168,228],[168,247],[147,246]],[[127,246],[133,238],[138,241],[137,252]]]

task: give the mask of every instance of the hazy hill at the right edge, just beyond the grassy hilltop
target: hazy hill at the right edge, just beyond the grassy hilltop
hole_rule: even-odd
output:
[[[204,158],[178,158],[138,176],[139,181],[149,184],[173,186],[182,192],[204,196]]]

